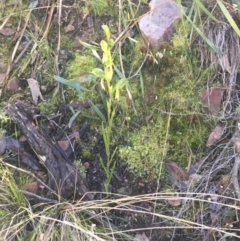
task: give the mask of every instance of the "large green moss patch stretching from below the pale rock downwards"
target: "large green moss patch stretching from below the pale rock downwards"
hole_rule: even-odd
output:
[[[139,80],[131,80],[131,93],[140,116],[140,130],[128,133],[129,145],[119,155],[138,175],[159,178],[165,159],[186,166],[192,153],[201,154],[211,123],[200,112],[200,89],[204,85],[197,58],[188,47],[187,26],[179,25],[171,43],[153,52],[142,68],[145,96],[141,98]],[[142,63],[143,45],[138,42],[134,66]],[[129,54],[131,55],[131,54]],[[157,62],[155,61],[157,60]],[[198,77],[199,76],[199,77]]]

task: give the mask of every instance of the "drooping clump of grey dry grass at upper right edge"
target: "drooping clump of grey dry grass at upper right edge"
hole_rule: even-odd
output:
[[[220,3],[220,1],[218,1]],[[221,2],[222,6],[223,3]],[[220,50],[220,53],[213,51],[201,51],[202,61],[208,62],[216,70],[220,67],[222,71],[221,76],[212,76],[211,82],[214,82],[217,78],[221,78],[222,86],[226,89],[225,101],[223,102],[222,115],[229,115],[232,112],[232,99],[238,98],[233,92],[236,85],[236,78],[238,72],[238,66],[240,63],[240,44],[239,36],[232,27],[224,22],[226,13],[221,12],[221,8],[214,10],[215,14],[218,14],[218,18],[222,21],[218,24],[214,24],[210,20],[206,22],[205,35],[208,39]],[[231,17],[232,18],[232,17]],[[201,41],[202,44],[202,41]],[[201,50],[201,48],[200,48]],[[204,52],[205,51],[205,52]],[[222,55],[221,53],[224,53]],[[216,73],[216,72],[215,72]],[[227,73],[227,74],[226,74]],[[211,86],[211,83],[209,83]],[[234,97],[233,97],[234,96]]]

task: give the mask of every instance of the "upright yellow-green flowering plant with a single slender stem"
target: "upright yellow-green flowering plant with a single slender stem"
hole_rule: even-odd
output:
[[[106,35],[106,41],[102,40],[100,43],[101,49],[103,51],[102,64],[104,68],[95,68],[93,69],[92,73],[100,78],[101,88],[106,93],[106,95],[102,94],[101,96],[105,110],[107,112],[107,121],[102,124],[102,135],[107,155],[107,161],[105,164],[104,161],[100,158],[100,162],[106,174],[104,187],[105,191],[108,192],[109,184],[116,165],[116,162],[114,162],[114,156],[116,154],[117,148],[111,152],[111,133],[114,117],[116,114],[115,101],[119,100],[120,89],[128,83],[128,80],[126,78],[122,78],[119,79],[115,84],[113,83],[113,59],[111,55],[111,47],[113,46],[114,41],[111,39],[109,28],[106,25],[103,25],[102,28]],[[96,53],[94,52],[94,54]]]

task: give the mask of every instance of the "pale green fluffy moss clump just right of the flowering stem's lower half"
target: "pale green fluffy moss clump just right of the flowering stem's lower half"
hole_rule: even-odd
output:
[[[165,123],[159,118],[155,123],[129,133],[129,145],[119,148],[120,157],[142,177],[157,178],[160,174],[161,161],[169,148],[165,141]]]

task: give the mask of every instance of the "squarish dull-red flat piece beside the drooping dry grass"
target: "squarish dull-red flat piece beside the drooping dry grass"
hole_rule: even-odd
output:
[[[208,106],[213,114],[217,114],[222,103],[225,89],[223,87],[215,87],[202,91],[201,102]]]

